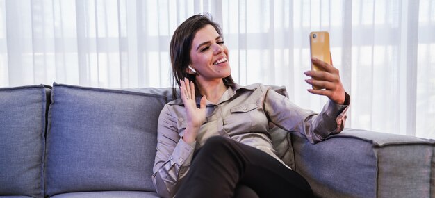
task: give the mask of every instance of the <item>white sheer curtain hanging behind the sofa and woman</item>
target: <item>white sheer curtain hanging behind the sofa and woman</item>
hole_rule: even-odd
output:
[[[0,0],[0,87],[168,87],[172,33],[201,12],[221,24],[238,83],[286,85],[320,110],[303,72],[309,32],[329,31],[347,127],[435,138],[432,0]]]

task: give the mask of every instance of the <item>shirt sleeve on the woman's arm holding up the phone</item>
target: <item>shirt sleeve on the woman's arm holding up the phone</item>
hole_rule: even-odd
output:
[[[286,131],[301,133],[311,143],[321,142],[328,135],[343,131],[349,104],[350,96],[345,93],[343,105],[329,100],[320,113],[315,113],[296,106],[271,88],[265,90],[264,108],[270,122]]]

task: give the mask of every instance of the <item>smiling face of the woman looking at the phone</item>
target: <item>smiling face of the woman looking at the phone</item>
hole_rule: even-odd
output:
[[[190,49],[190,66],[197,71],[197,81],[213,81],[231,74],[228,48],[211,25],[197,31]]]

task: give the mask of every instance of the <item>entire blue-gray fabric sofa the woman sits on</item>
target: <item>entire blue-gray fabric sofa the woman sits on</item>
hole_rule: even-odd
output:
[[[0,88],[0,197],[158,197],[156,129],[170,100],[170,88]],[[435,197],[434,140],[345,129],[312,145],[271,134],[318,197]]]

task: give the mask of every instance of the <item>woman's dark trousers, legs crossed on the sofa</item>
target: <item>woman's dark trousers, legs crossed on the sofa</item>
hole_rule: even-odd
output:
[[[177,197],[313,197],[297,172],[265,152],[228,138],[207,140]]]

